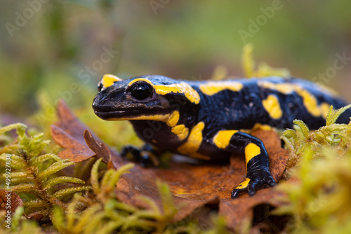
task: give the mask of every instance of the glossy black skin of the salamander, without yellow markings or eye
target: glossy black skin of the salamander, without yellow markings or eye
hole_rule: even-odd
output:
[[[154,85],[171,85],[182,82],[165,76],[150,75],[137,78],[140,77],[148,78]],[[213,137],[218,131],[251,129],[256,123],[270,125],[274,128],[292,128],[294,119],[304,121],[310,129],[317,129],[325,125],[326,121],[322,117],[312,116],[305,108],[303,98],[298,93],[292,92],[285,95],[277,90],[260,87],[258,81],[298,84],[301,88],[310,92],[317,99],[318,104],[322,102],[333,104],[334,109],[346,105],[342,99],[331,95],[314,83],[297,78],[285,79],[279,77],[235,79],[234,81],[239,81],[244,85],[241,90],[223,90],[215,95],[206,95],[201,92],[199,85],[207,81],[183,81],[190,84],[199,93],[199,104],[190,102],[182,93],[158,95],[156,92],[145,102],[140,103],[131,97],[126,88],[126,85],[133,79],[135,78],[116,82],[96,95],[93,101],[93,109],[100,118],[163,115],[177,110],[180,113],[178,124],[184,124],[190,130],[197,123],[204,123],[202,142],[197,153],[209,156],[211,160],[227,160],[230,154],[243,152],[250,143],[260,147],[260,155],[252,158],[247,163],[248,174],[246,177],[251,179],[251,184],[248,188],[234,189],[232,197],[237,197],[239,193],[244,191],[249,191],[249,194],[253,195],[254,191],[263,184],[274,186],[275,182],[270,175],[267,152],[260,139],[244,132],[237,132],[232,135],[229,146],[225,149],[219,149],[213,143]],[[282,118],[271,118],[263,108],[262,101],[270,94],[277,95],[283,112]],[[337,122],[348,123],[350,116],[351,111],[347,110],[338,118]],[[147,144],[156,146],[161,151],[179,153],[177,148],[187,142],[187,139],[183,141],[178,139],[177,135],[171,132],[171,127],[162,121],[134,120],[131,123],[141,139]],[[137,152],[135,149],[133,151]],[[140,152],[143,151],[138,151],[135,155],[140,157]]]

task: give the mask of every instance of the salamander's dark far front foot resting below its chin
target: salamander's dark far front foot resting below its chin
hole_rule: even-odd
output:
[[[159,166],[160,153],[158,149],[155,149],[150,144],[145,144],[140,149],[135,146],[124,146],[121,156],[139,163],[142,167],[157,167]]]

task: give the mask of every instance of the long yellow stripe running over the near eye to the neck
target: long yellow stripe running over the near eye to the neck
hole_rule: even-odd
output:
[[[174,83],[171,85],[154,85],[147,78],[135,78],[133,81],[128,83],[128,86],[131,86],[133,85],[133,83],[138,81],[145,81],[147,83],[150,83],[150,85],[152,85],[152,87],[154,88],[155,92],[159,95],[166,95],[171,92],[182,93],[183,95],[185,95],[185,97],[187,97],[187,99],[190,100],[190,102],[193,102],[194,104],[199,104],[200,102],[200,95],[197,92],[197,90],[194,90],[192,86],[185,82]]]

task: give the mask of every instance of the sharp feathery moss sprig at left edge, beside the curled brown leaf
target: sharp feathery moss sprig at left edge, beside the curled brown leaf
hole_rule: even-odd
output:
[[[58,189],[57,185],[67,183],[85,184],[84,180],[74,177],[57,177],[56,172],[74,165],[74,162],[62,160],[54,153],[43,153],[50,141],[44,139],[42,133],[29,136],[26,134],[26,125],[16,123],[0,128],[0,135],[10,130],[17,131],[17,139],[1,149],[0,162],[9,162],[11,158],[11,188],[15,193],[23,193],[25,210],[42,211],[50,214],[53,205],[67,209],[67,204],[60,199],[77,191],[91,190],[91,186],[74,186]],[[6,174],[1,175],[2,178]],[[10,183],[9,183],[10,184]],[[29,198],[29,199],[28,199]]]

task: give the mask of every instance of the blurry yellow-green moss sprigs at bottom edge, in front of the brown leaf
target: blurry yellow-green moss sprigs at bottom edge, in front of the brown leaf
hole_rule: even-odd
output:
[[[146,196],[136,198],[145,204],[145,209],[128,205],[116,198],[114,188],[121,174],[128,173],[133,164],[128,163],[118,170],[107,170],[100,177],[100,163],[101,159],[97,160],[91,169],[95,200],[76,193],[66,212],[61,207],[54,208],[51,219],[60,233],[200,233],[199,227],[192,223],[174,226],[173,218],[179,207],[174,204],[167,184],[157,181],[161,207]],[[224,224],[218,226],[220,230],[223,227]]]

